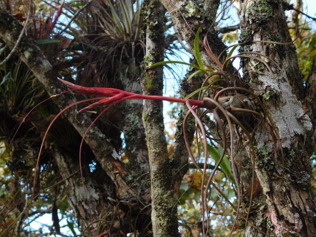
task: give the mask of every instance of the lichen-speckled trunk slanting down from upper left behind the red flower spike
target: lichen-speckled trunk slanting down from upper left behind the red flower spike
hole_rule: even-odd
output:
[[[19,21],[9,13],[0,11],[0,38],[10,48],[14,46],[21,29],[22,26]],[[36,78],[43,84],[49,95],[52,96],[67,90],[58,82],[58,72],[53,70],[52,65],[30,37],[22,37],[16,52],[21,60],[32,70]],[[53,100],[60,108],[64,108],[76,101],[72,95],[54,97]],[[70,108],[64,114],[81,136],[83,136],[85,130],[92,122],[87,114],[82,113],[79,116],[77,106]],[[135,195],[136,191],[133,188],[129,188],[129,185],[125,181],[127,171],[122,162],[118,160],[117,152],[111,143],[106,140],[105,135],[97,127],[94,127],[94,132],[90,132],[85,141],[94,152],[102,168],[115,183],[118,196]]]

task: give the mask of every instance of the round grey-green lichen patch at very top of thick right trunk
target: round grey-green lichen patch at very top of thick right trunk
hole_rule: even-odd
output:
[[[257,0],[247,9],[247,13],[250,24],[252,22],[260,23],[269,20],[273,14],[273,9],[266,0]]]

